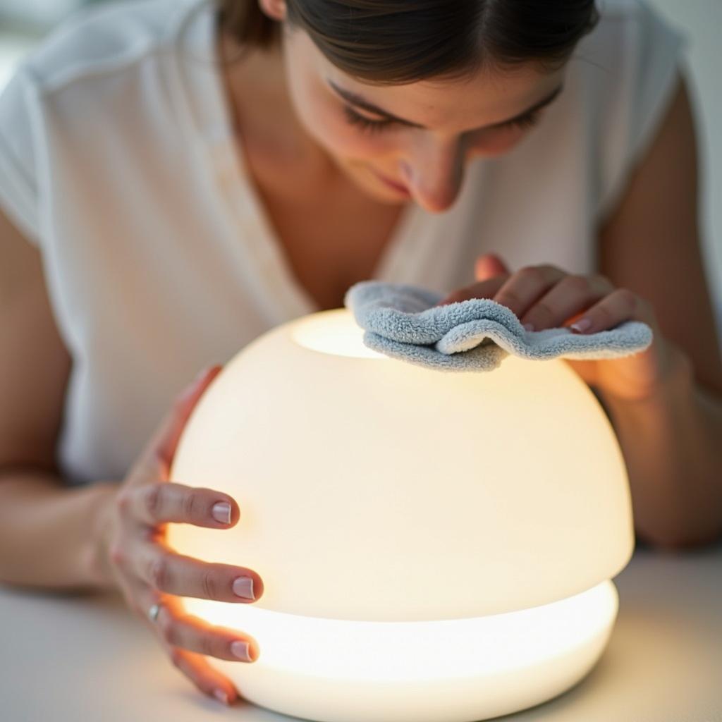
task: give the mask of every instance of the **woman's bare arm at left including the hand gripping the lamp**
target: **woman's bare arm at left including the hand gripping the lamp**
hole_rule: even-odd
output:
[[[118,589],[173,664],[201,692],[230,703],[237,690],[206,656],[252,662],[257,645],[186,614],[181,597],[248,604],[263,594],[263,581],[245,567],[175,554],[164,533],[171,522],[222,530],[240,518],[229,495],[168,479],[186,419],[221,367],[206,370],[176,400],[125,479],[68,487],[56,443],[71,357],[53,319],[40,253],[1,213],[0,348],[0,582]]]

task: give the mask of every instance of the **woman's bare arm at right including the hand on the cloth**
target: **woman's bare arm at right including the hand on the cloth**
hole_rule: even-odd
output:
[[[477,283],[440,303],[489,297],[537,330],[575,320],[562,298],[586,308],[592,329],[612,328],[619,308],[625,318],[638,312],[635,318],[653,322],[654,353],[636,369],[631,361],[625,372],[617,362],[566,361],[614,425],[639,536],[666,548],[708,544],[722,534],[722,358],[697,235],[695,131],[682,82],[624,197],[599,230],[599,250],[604,275],[577,277],[563,294],[557,289],[572,278],[566,271],[547,264],[512,274],[486,253],[477,259]],[[615,312],[594,304],[615,289],[629,290],[633,303],[645,308],[618,303]]]

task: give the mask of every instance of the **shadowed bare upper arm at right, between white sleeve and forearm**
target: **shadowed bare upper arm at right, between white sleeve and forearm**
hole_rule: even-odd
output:
[[[697,139],[682,80],[658,132],[601,227],[601,271],[651,302],[695,378],[722,394],[714,295],[697,219]],[[680,312],[684,309],[684,313]]]

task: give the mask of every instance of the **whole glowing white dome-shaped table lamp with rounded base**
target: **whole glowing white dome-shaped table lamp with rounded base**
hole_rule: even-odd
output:
[[[171,479],[241,516],[171,525],[170,544],[265,588],[186,599],[258,642],[256,662],[211,664],[326,722],[471,722],[559,695],[606,646],[634,544],[609,420],[560,359],[440,372],[362,333],[345,309],[277,326],[188,420]]]

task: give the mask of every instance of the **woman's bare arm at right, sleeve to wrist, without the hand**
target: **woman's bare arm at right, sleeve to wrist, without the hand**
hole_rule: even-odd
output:
[[[601,270],[656,310],[674,371],[648,399],[604,396],[630,474],[635,523],[664,547],[722,531],[722,360],[697,233],[697,149],[680,82],[600,236]]]

